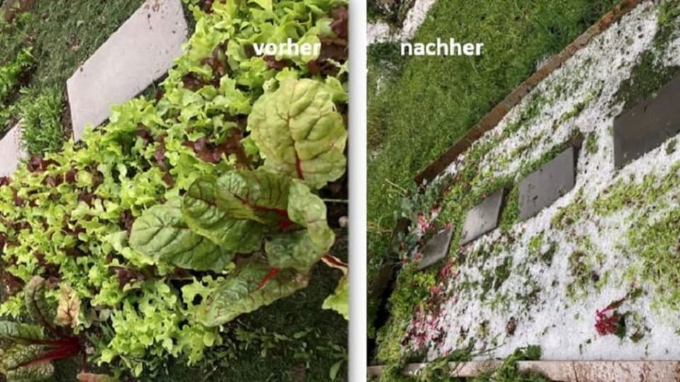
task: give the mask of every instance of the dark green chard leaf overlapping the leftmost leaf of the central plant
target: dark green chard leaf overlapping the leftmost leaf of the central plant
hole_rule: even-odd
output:
[[[240,202],[225,198],[217,187],[217,178],[196,180],[184,195],[184,219],[198,235],[238,253],[251,253],[262,245],[264,227],[255,220],[232,216],[249,214]],[[236,204],[239,204],[237,206]],[[250,214],[254,212],[250,211]]]

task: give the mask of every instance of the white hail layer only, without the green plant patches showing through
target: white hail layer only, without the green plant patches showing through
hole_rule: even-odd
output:
[[[574,189],[537,216],[517,224],[513,230],[518,240],[509,244],[509,249],[503,253],[487,260],[483,266],[487,270],[493,269],[504,257],[512,256],[514,267],[521,264],[528,267],[532,281],[528,282],[525,279],[526,276],[523,275],[525,272],[521,274],[513,272],[498,291],[489,291],[486,302],[473,296],[458,296],[460,298],[458,302],[452,298],[444,303],[438,324],[429,331],[429,337],[436,336],[438,330],[443,330],[446,337],[441,344],[430,342],[427,349],[429,359],[436,359],[467,345],[470,337],[477,337],[477,348],[485,345],[489,348],[494,347],[492,339],[495,339],[498,347],[493,354],[496,357],[506,357],[516,347],[526,345],[540,345],[543,349],[543,359],[680,357],[680,347],[677,346],[680,338],[675,332],[676,328],[680,328],[680,316],[676,312],[653,311],[650,308],[649,294],[653,294],[650,287],[641,286],[649,294],[642,296],[635,303],[627,302],[623,307],[640,313],[645,319],[645,325],[650,328],[650,332],[645,333],[642,340],[633,343],[629,339],[620,340],[614,335],[599,336],[594,328],[596,310],[621,299],[630,289],[623,281],[623,272],[627,265],[635,260],[622,255],[617,245],[625,243],[625,235],[630,229],[629,218],[635,211],[624,208],[614,216],[589,216],[588,219],[579,221],[579,224],[567,228],[567,231],[550,226],[553,216],[561,207],[574,202],[579,190],[582,189],[584,199],[591,202],[602,190],[619,179],[640,181],[645,174],[665,175],[673,163],[680,161],[680,150],[674,154],[667,154],[664,144],[622,170],[615,170],[613,167],[611,132],[613,118],[623,110],[623,104],[616,103],[614,95],[623,81],[630,77],[631,70],[642,52],[652,49],[652,39],[656,30],[655,5],[645,3],[638,6],[622,21],[611,25],[608,30],[595,37],[587,47],[577,52],[560,69],[540,83],[497,127],[477,142],[483,144],[493,135],[501,134],[507,126],[519,119],[521,111],[531,102],[531,96],[540,94],[548,98],[540,115],[511,138],[502,141],[483,158],[481,168],[492,173],[490,178],[516,174],[521,163],[537,160],[555,144],[567,141],[575,129],[579,129],[586,136],[596,134],[599,149],[595,154],[589,154],[585,149],[580,151]],[[675,35],[669,49],[661,57],[660,61],[664,65],[680,64],[679,34]],[[557,94],[555,91],[557,86],[566,86],[566,91]],[[576,117],[560,122],[560,117],[573,110],[574,105],[578,103],[585,103],[582,112]],[[499,161],[499,158],[509,158],[510,153],[532,138],[536,139],[536,143],[531,149],[523,151],[516,158],[510,158],[510,161]],[[447,171],[455,173],[456,163],[453,163]],[[669,200],[657,202],[659,208],[669,205]],[[541,232],[545,238],[559,244],[557,252],[553,255],[551,267],[527,258],[529,240]],[[470,255],[477,248],[494,243],[500,237],[498,230],[489,233],[467,248],[464,255]],[[601,274],[611,272],[604,287],[597,292],[593,289],[577,303],[565,296],[565,286],[573,281],[567,259],[579,247],[574,238],[580,240],[589,238],[593,250],[605,256],[604,265],[599,268],[599,272]],[[545,240],[543,245],[544,247],[547,245]],[[482,280],[482,270],[477,267],[463,267],[460,271],[461,275],[465,274],[471,281]],[[443,287],[451,290],[455,282],[455,279],[451,280],[448,286]],[[553,287],[553,282],[558,283],[557,287]],[[517,293],[528,293],[532,283],[540,286],[538,303],[531,305],[527,310],[526,305],[516,301],[512,296]],[[499,294],[510,296],[510,303],[506,309],[494,310],[489,306],[489,301]],[[511,317],[516,320],[516,330],[513,335],[508,335],[506,325]],[[488,335],[482,339],[477,330],[485,320],[488,320],[486,325]],[[469,332],[467,339],[460,334],[461,329]]]

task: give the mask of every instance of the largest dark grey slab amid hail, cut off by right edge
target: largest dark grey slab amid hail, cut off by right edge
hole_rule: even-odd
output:
[[[614,119],[614,166],[622,168],[680,132],[680,76],[655,97],[638,103]]]

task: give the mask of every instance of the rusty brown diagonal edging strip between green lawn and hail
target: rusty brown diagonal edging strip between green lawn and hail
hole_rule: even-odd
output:
[[[465,134],[465,137],[461,138],[453,146],[450,146],[446,152],[441,154],[441,156],[436,158],[435,161],[430,163],[429,166],[416,175],[414,178],[416,183],[421,184],[424,181],[433,180],[437,175],[442,173],[443,170],[446,170],[450,163],[453,163],[460,154],[463,154],[463,152],[469,149],[477,139],[480,139],[482,135],[485,134],[485,132],[496,127],[508,112],[518,105],[521,100],[538,85],[538,83],[550,76],[555,69],[560,68],[567,59],[570,59],[576,52],[581,50],[582,47],[586,46],[593,37],[602,33],[609,28],[610,25],[616,23],[616,21],[621,20],[625,14],[633,11],[633,9],[642,3],[642,1],[645,0],[622,0],[619,4],[614,6],[612,11],[609,11],[606,15],[602,16],[597,23],[588,28],[588,30],[577,37],[570,45],[567,45],[562,52],[555,55],[549,62],[545,63],[538,71],[534,72],[528,79],[521,83],[514,91],[512,91],[512,93],[506,96],[506,98],[488,112],[480,122],[477,122],[477,125],[472,127],[472,129]]]

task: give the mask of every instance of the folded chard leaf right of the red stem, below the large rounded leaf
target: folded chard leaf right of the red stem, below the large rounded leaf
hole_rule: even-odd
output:
[[[307,229],[273,237],[265,245],[267,260],[272,267],[306,274],[335,241],[326,221],[326,204],[309,187],[295,181],[290,185],[288,218]]]

